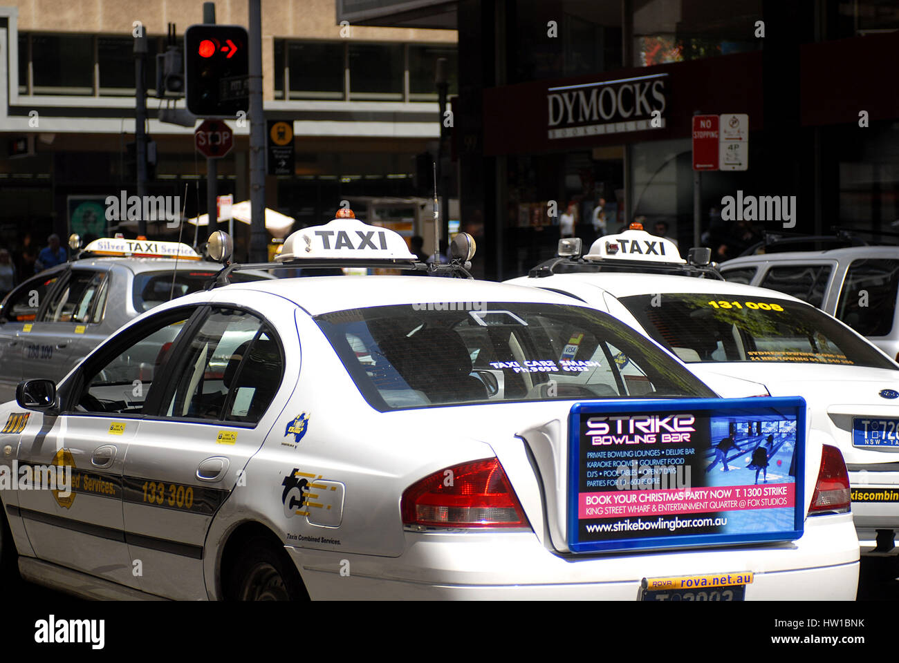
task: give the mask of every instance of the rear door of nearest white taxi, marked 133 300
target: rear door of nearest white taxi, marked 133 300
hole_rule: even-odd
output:
[[[254,305],[269,297],[275,320],[241,306],[209,307],[179,347],[154,416],[129,445],[124,518],[146,592],[207,596],[209,525],[230,492],[246,485],[241,473],[290,392],[281,388],[286,355],[275,330],[289,325],[288,351],[298,353],[296,324],[280,298],[253,293]]]

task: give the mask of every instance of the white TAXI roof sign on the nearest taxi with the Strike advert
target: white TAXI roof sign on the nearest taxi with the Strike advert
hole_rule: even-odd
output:
[[[294,260],[417,261],[402,236],[355,218],[335,218],[291,234],[276,262]]]

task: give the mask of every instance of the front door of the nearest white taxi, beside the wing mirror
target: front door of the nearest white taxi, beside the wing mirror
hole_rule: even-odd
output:
[[[121,332],[60,385],[61,413],[45,415],[40,434],[22,440],[20,465],[71,468],[68,494],[20,491],[25,529],[40,559],[138,587],[122,517],[125,456],[140,434],[156,378],[196,310],[179,307]]]

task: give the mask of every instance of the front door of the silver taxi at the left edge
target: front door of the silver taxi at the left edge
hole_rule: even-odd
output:
[[[15,398],[25,377],[24,348],[31,343],[35,320],[67,268],[48,270],[29,278],[6,297],[0,310],[0,402]]]

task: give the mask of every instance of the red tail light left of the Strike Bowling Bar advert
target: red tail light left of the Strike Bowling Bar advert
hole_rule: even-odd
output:
[[[455,465],[403,492],[404,525],[428,527],[529,526],[512,484],[496,458]]]

